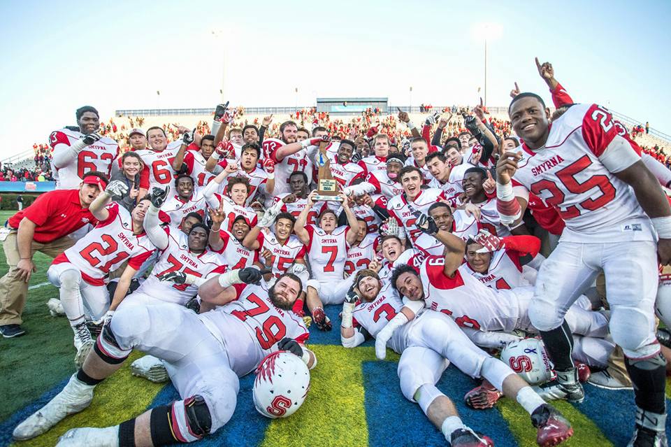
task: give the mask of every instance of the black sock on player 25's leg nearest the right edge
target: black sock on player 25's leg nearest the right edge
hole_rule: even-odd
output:
[[[627,372],[634,385],[636,405],[653,413],[665,413],[666,359],[662,353],[647,359],[624,357]]]

